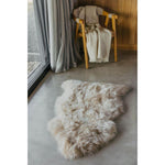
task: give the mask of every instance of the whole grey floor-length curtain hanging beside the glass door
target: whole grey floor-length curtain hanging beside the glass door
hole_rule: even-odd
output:
[[[34,0],[34,7],[40,48],[50,56],[52,70],[76,67],[81,58],[74,43],[74,0]]]

